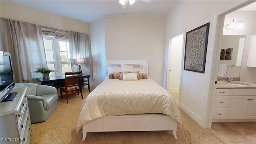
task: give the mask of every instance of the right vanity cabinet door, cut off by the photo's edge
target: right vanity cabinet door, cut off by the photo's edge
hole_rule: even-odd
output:
[[[256,118],[256,96],[250,96],[246,118],[247,119]]]

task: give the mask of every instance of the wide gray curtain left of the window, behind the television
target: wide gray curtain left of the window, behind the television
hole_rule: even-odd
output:
[[[38,66],[47,66],[41,26],[1,18],[1,50],[10,52],[15,82],[33,82]]]

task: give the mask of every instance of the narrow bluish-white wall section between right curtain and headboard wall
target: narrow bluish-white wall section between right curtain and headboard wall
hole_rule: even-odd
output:
[[[90,23],[92,47],[93,86],[98,86],[106,77],[106,50],[104,17]]]

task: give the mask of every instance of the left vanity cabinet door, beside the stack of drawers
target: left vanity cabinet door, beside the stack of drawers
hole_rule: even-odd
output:
[[[250,96],[232,96],[229,119],[245,119]]]

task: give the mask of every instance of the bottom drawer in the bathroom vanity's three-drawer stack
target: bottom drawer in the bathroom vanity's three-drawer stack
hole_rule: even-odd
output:
[[[230,108],[213,108],[213,120],[224,120],[229,117]]]

